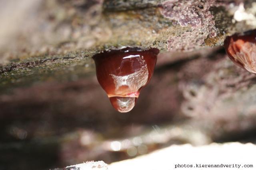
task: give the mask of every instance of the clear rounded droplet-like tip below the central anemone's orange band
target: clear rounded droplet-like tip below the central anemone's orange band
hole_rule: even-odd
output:
[[[121,113],[127,113],[133,109],[136,104],[136,97],[114,96],[109,98],[112,106]]]

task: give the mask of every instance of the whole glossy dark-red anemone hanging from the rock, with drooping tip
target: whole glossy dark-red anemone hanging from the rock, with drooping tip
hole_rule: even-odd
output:
[[[117,111],[128,112],[135,106],[153,75],[158,53],[158,49],[126,48],[94,55],[98,82]]]

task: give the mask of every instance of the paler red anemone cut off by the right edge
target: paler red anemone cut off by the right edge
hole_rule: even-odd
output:
[[[236,65],[256,73],[256,30],[226,37],[224,47]]]

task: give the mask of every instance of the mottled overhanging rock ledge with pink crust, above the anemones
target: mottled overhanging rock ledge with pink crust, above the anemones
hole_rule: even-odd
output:
[[[123,46],[157,47],[162,51],[214,46],[222,44],[227,34],[255,27],[253,22],[248,22],[252,18],[239,22],[234,20],[233,15],[240,2],[242,3],[239,0],[28,1],[24,8],[31,10],[24,12],[24,8],[21,8],[24,5],[17,4],[21,6],[17,7],[17,11],[22,15],[9,18],[13,29],[6,29],[6,25],[1,25],[1,60],[64,55],[75,51],[83,57],[90,57],[98,51]],[[255,14],[253,1],[247,0],[242,6],[247,14]],[[8,13],[2,13],[1,19],[4,22]],[[17,25],[17,20],[22,21],[22,27]]]

